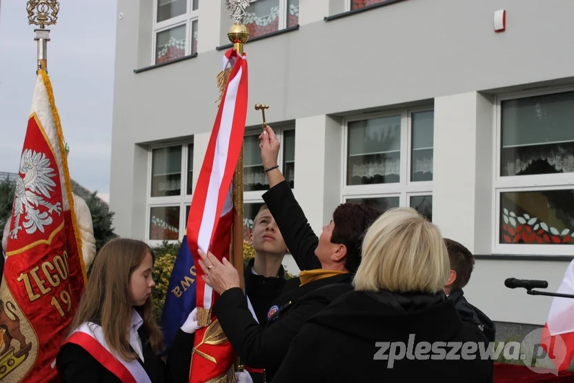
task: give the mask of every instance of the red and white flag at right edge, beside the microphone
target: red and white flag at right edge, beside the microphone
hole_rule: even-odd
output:
[[[574,260],[566,268],[557,293],[574,295]],[[540,344],[558,371],[568,369],[574,356],[574,298],[553,298]]]

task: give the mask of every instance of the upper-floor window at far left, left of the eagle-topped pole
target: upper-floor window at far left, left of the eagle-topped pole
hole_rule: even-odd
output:
[[[153,63],[197,52],[199,0],[155,0]]]

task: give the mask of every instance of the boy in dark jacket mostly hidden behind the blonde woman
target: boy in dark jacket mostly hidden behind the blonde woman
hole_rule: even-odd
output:
[[[448,250],[448,258],[451,261],[451,275],[448,277],[448,282],[444,286],[444,293],[455,303],[462,320],[471,322],[479,328],[482,333],[488,338],[489,342],[495,341],[496,327],[482,311],[468,303],[463,296],[462,288],[468,284],[471,279],[475,259],[468,248],[462,246],[452,239],[445,238],[444,243]]]

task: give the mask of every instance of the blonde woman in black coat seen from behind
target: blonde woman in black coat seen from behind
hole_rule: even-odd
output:
[[[364,237],[353,291],[308,320],[273,383],[492,382],[484,336],[442,291],[449,271],[437,226],[388,210]]]

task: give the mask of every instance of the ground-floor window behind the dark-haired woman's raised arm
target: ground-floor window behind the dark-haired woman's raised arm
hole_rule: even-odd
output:
[[[295,187],[295,129],[275,128],[277,139],[281,142],[281,151],[277,164],[286,181]],[[253,219],[264,204],[263,194],[269,190],[269,181],[263,169],[261,161],[261,149],[259,149],[259,130],[247,132],[244,138],[244,238],[248,239],[253,230]]]

